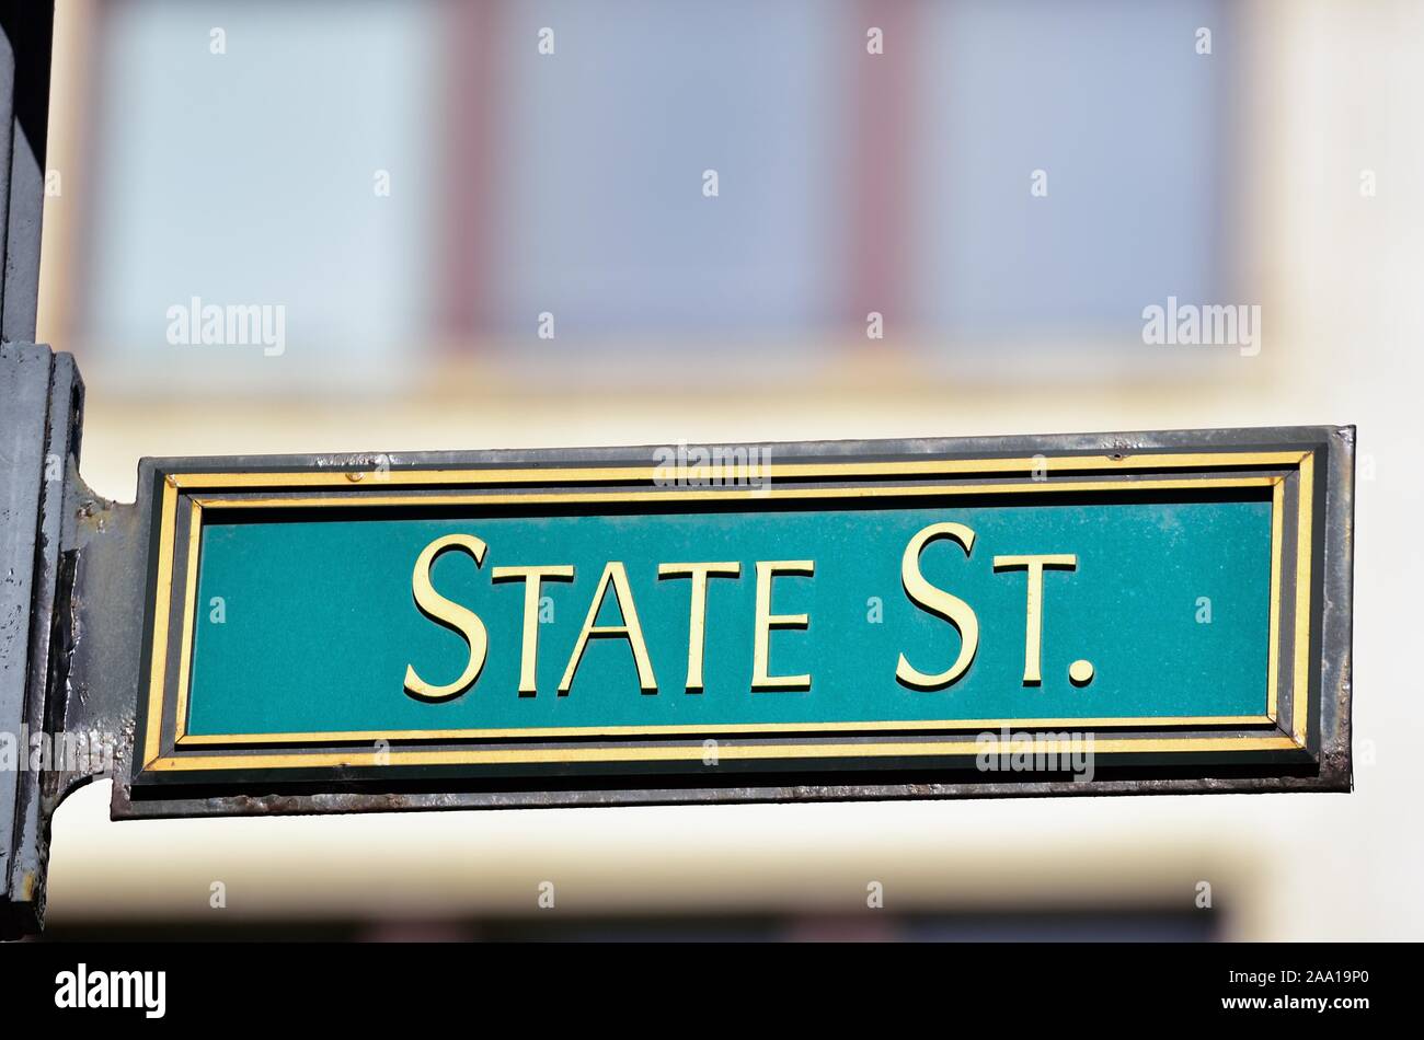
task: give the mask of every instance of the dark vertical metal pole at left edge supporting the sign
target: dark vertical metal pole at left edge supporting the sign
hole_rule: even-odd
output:
[[[0,734],[43,730],[66,612],[64,501],[78,450],[74,361],[34,339],[54,4],[0,0]],[[44,916],[43,775],[0,768],[0,938]]]

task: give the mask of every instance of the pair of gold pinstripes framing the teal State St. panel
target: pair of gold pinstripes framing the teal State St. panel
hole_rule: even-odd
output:
[[[1088,455],[1088,457],[1057,457],[1051,458],[1049,464],[1054,467],[1078,467],[1078,465],[1102,465],[1105,469],[1146,469],[1146,468],[1173,468],[1173,467],[1189,467],[1189,465],[1299,465],[1302,467],[1302,515],[1304,518],[1307,505],[1310,502],[1310,485],[1309,479],[1309,464],[1312,461],[1312,452],[1303,451],[1280,451],[1280,452],[1193,452],[1193,454],[1171,454],[1171,455],[1136,455],[1125,460],[1115,458],[1112,455]],[[1008,472],[1015,468],[1032,468],[1035,465],[1042,465],[1042,458],[1027,458],[1027,460],[943,460],[943,461],[926,461],[926,462],[879,462],[879,464],[863,464],[863,462],[844,462],[844,464],[803,464],[803,465],[779,465],[769,467],[773,469],[773,477],[816,477],[816,475],[886,475],[886,474],[946,474],[946,472]],[[778,472],[779,471],[779,472]],[[702,471],[705,472],[705,469]],[[735,468],[733,468],[735,472]],[[580,468],[562,468],[562,469],[515,469],[515,471],[500,471],[500,469],[449,469],[449,471],[393,471],[382,475],[382,482],[386,478],[392,478],[392,482],[403,484],[420,484],[420,485],[440,485],[440,484],[456,484],[456,482],[471,482],[481,485],[500,485],[500,484],[515,484],[524,479],[568,479],[571,482],[591,482],[591,481],[609,481],[609,479],[652,479],[655,474],[654,468],[649,467],[632,467],[632,468],[598,468],[598,467],[580,467]],[[145,741],[144,741],[144,765],[145,768],[155,770],[182,770],[189,768],[184,763],[194,763],[191,768],[245,768],[258,765],[271,767],[289,767],[299,765],[305,768],[319,768],[322,765],[340,765],[340,764],[359,764],[356,760],[362,757],[362,753],[315,753],[315,754],[234,754],[234,755],[181,755],[172,758],[162,758],[159,751],[159,734],[161,734],[161,720],[162,720],[162,706],[164,706],[164,681],[165,673],[164,666],[167,660],[167,623],[159,629],[157,622],[158,617],[167,617],[171,609],[169,600],[169,586],[172,583],[172,551],[175,538],[175,514],[177,514],[177,494],[182,488],[198,489],[198,488],[239,488],[239,487],[273,487],[271,481],[273,478],[281,478],[278,485],[281,487],[352,487],[353,479],[340,471],[319,471],[319,472],[290,472],[290,474],[172,474],[164,482],[164,499],[161,512],[161,532],[159,532],[159,561],[158,561],[158,576],[159,586],[155,595],[155,637],[154,637],[154,657],[152,657],[152,681],[150,684],[150,714],[148,724],[145,727]],[[686,733],[782,733],[782,731],[797,731],[797,733],[817,733],[817,731],[844,731],[844,730],[904,730],[913,731],[917,728],[936,728],[940,731],[946,730],[965,730],[965,728],[998,728],[1002,726],[1017,726],[1017,727],[1062,727],[1062,726],[1078,726],[1078,727],[1099,727],[1099,726],[1142,726],[1142,727],[1186,727],[1186,726],[1252,726],[1252,724],[1272,724],[1276,718],[1276,704],[1277,704],[1277,642],[1279,642],[1279,599],[1280,599],[1280,571],[1282,571],[1282,521],[1283,521],[1283,477],[1267,475],[1267,477],[1253,477],[1253,475],[1237,475],[1227,478],[1200,478],[1200,479],[1142,479],[1132,481],[1126,487],[1136,489],[1172,489],[1172,488],[1210,488],[1210,487],[1272,487],[1272,646],[1269,649],[1269,680],[1267,680],[1267,714],[1265,717],[1255,716],[1218,716],[1218,717],[1156,717],[1156,718],[1067,718],[1067,720],[948,720],[948,721],[928,721],[928,723],[823,723],[816,724],[733,724],[722,727],[709,726],[675,726],[675,727],[551,727],[551,728],[525,728],[525,730],[427,730],[427,731],[362,731],[362,733],[333,733],[333,734],[218,734],[218,736],[199,736],[194,737],[187,734],[187,700],[188,700],[188,679],[191,667],[191,649],[192,649],[192,620],[195,613],[195,596],[197,596],[197,575],[198,575],[198,551],[201,541],[201,519],[202,511],[206,508],[268,508],[268,506],[333,506],[333,505],[410,505],[410,504],[541,504],[541,502],[601,502],[601,501],[708,501],[708,499],[759,499],[769,497],[779,498],[864,498],[864,497],[896,497],[896,495],[920,495],[920,497],[934,497],[934,495],[964,495],[964,494],[980,494],[984,491],[991,492],[1024,492],[1024,491],[1057,491],[1057,492],[1072,492],[1072,491],[1109,491],[1122,489],[1124,482],[1121,481],[1061,481],[1061,482],[1042,482],[1035,481],[1031,484],[994,484],[994,485],[954,485],[954,487],[871,487],[871,488],[778,488],[778,489],[716,489],[716,491],[688,491],[685,488],[676,488],[672,491],[622,491],[622,492],[555,492],[555,494],[514,494],[514,495],[491,495],[491,494],[473,494],[473,495],[399,495],[399,497],[372,497],[362,495],[355,502],[340,502],[326,498],[275,498],[275,499],[225,499],[225,498],[192,498],[191,499],[191,514],[189,514],[189,539],[188,539],[188,566],[187,566],[187,588],[185,588],[185,605],[184,605],[184,643],[179,656],[179,693],[178,693],[178,713],[177,713],[177,734],[178,743],[188,744],[244,744],[244,743],[316,743],[316,741],[350,741],[350,740],[376,740],[383,737],[394,737],[399,740],[429,740],[429,738],[474,738],[474,737],[490,737],[490,736],[520,736],[520,737],[540,737],[540,736],[646,736],[646,734],[686,734]],[[367,485],[369,487],[369,485]],[[1299,525],[1297,525],[1299,526]],[[1250,750],[1242,741],[1267,741],[1270,750],[1289,750],[1297,748],[1304,744],[1303,740],[1303,720],[1306,717],[1304,694],[1300,691],[1303,681],[1307,677],[1303,674],[1302,660],[1307,657],[1309,649],[1302,653],[1300,649],[1300,632],[1304,629],[1309,637],[1309,585],[1306,585],[1304,592],[1304,609],[1302,609],[1302,586],[1300,579],[1304,576],[1309,582],[1309,526],[1304,526],[1304,535],[1297,538],[1297,609],[1296,609],[1296,694],[1293,696],[1296,726],[1294,733],[1297,734],[1294,740],[1289,737],[1196,737],[1196,738],[1128,738],[1128,740],[1098,740],[1095,741],[1095,750],[1112,753],[1114,748],[1132,750],[1132,751],[1162,751],[1162,750],[1182,750],[1182,751],[1203,751],[1203,750]],[[1302,575],[1302,566],[1304,566],[1304,573]],[[1284,740],[1284,745],[1279,741]],[[1229,747],[1219,747],[1222,743]],[[1276,743],[1272,743],[1276,741]],[[1263,744],[1259,750],[1266,750],[1267,744]],[[834,747],[836,751],[826,751],[823,748]],[[934,748],[923,750],[923,748]],[[743,745],[732,757],[797,757],[795,753],[805,753],[806,757],[832,757],[833,754],[840,754],[844,757],[847,753],[850,755],[871,755],[871,754],[954,754],[953,745],[946,745],[944,743],[923,744],[923,743],[889,743],[889,744],[857,744],[857,745]],[[1255,747],[1255,745],[1252,745]],[[876,750],[867,751],[863,748],[894,748],[894,750]],[[719,748],[719,754],[729,751],[731,748]],[[568,754],[571,751],[578,751],[578,754]],[[629,757],[621,757],[622,753],[628,753]],[[686,753],[686,754],[684,754]],[[503,761],[646,761],[656,760],[662,757],[669,761],[699,757],[702,754],[701,747],[693,748],[637,748],[637,747],[622,747],[622,748],[562,748],[558,751],[538,751],[533,748],[498,748],[498,750],[459,750],[459,751],[390,751],[382,755],[384,761],[399,763],[404,761],[406,755],[414,755],[409,758],[412,763],[429,763],[429,764],[463,764],[463,763],[503,763]],[[451,758],[453,755],[453,758]],[[511,757],[513,755],[513,757]],[[524,755],[524,757],[521,757]],[[544,755],[544,757],[541,757]],[[553,755],[553,757],[548,757]],[[592,758],[588,758],[592,755]],[[202,765],[201,763],[215,761],[214,765]],[[234,763],[241,761],[241,765]]]

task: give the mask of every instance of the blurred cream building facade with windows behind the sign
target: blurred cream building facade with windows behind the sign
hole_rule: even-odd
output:
[[[60,0],[56,40],[40,337],[114,498],[142,455],[1361,427],[1354,795],[110,824],[105,785],[57,933],[1424,935],[1417,4]],[[1259,350],[1146,341],[1169,300],[1259,306]],[[197,302],[281,350],[174,341]]]

